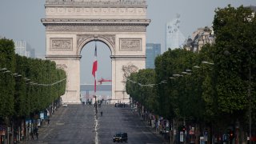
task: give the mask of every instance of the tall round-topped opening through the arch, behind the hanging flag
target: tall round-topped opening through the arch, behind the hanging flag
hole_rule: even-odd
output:
[[[85,42],[82,46],[80,54],[82,58],[80,59],[80,94],[81,101],[88,104],[88,102],[94,102],[94,76],[92,75],[92,68],[94,58],[95,46],[97,46],[97,86],[96,95],[98,100],[104,100],[103,102],[108,102],[111,98],[112,82],[102,82],[103,80],[112,79],[112,66],[111,66],[111,49],[106,42],[101,40],[91,40],[90,42]],[[102,83],[101,83],[102,82]],[[109,100],[110,101],[110,100]]]

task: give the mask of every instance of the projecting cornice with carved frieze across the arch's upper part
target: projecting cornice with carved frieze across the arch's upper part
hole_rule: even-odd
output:
[[[55,32],[146,32],[150,19],[42,19],[46,31]]]

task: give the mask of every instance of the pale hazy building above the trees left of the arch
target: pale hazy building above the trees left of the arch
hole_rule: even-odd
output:
[[[34,49],[26,41],[14,41],[15,53],[28,58],[35,58]]]

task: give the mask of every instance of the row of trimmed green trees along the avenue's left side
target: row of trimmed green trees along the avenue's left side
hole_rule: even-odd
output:
[[[0,39],[0,122],[45,110],[66,90],[66,73],[55,62],[15,54],[12,40]]]

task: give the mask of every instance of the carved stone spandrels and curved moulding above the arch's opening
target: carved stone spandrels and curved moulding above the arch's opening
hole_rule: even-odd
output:
[[[82,47],[86,45],[86,43],[91,41],[102,41],[106,43],[107,46],[110,47],[111,54],[114,54],[115,47],[115,35],[114,34],[78,34],[77,35],[77,46],[79,55],[81,53]]]

